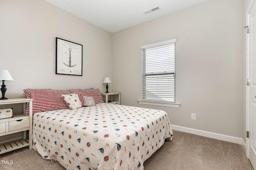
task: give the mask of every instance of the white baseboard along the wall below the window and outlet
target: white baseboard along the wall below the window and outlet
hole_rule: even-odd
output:
[[[197,134],[200,136],[205,136],[208,138],[214,138],[214,139],[218,139],[218,140],[224,140],[227,142],[241,144],[241,145],[243,145],[243,147],[246,148],[246,144],[242,138],[208,132],[208,131],[204,131],[204,130],[198,130],[198,129],[194,129],[194,128],[181,127],[181,126],[177,126],[177,125],[171,125],[171,127],[173,130],[178,130],[181,132],[187,132],[187,133]]]

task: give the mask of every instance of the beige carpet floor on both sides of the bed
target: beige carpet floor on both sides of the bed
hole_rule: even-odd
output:
[[[28,147],[0,155],[0,170],[64,170],[58,162],[43,160]],[[2,164],[12,160],[13,164]],[[253,170],[240,144],[224,142],[174,130],[173,140],[165,142],[144,162],[144,170]]]

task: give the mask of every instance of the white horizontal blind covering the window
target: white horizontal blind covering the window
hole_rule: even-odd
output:
[[[175,103],[176,39],[141,46],[142,100]]]

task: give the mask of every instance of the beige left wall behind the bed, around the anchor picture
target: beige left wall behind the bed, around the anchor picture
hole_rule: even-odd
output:
[[[14,79],[6,82],[6,97],[25,97],[26,88],[105,91],[104,77],[112,79],[111,36],[44,0],[1,0],[0,69]],[[56,37],[83,45],[82,76],[55,74]]]

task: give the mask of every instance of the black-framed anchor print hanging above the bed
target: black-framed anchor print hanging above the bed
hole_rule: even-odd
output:
[[[56,37],[56,74],[82,76],[83,45]]]

